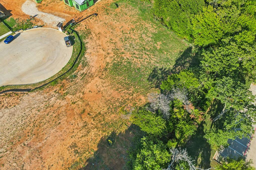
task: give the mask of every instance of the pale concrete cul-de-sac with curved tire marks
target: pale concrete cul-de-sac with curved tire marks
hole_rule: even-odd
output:
[[[69,61],[72,47],[66,34],[50,28],[36,28],[14,36],[10,44],[0,43],[0,86],[36,83],[59,72]]]

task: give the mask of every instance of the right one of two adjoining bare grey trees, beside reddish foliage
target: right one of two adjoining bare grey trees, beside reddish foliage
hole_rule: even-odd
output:
[[[186,110],[191,113],[191,103],[188,100],[188,94],[185,88],[173,88],[169,94],[169,98],[171,100],[179,99],[185,105]]]

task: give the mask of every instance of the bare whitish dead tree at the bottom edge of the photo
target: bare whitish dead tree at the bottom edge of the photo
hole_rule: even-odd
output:
[[[174,170],[175,167],[174,164],[179,163],[180,161],[185,161],[188,163],[189,166],[189,170],[204,170],[201,168],[197,168],[194,163],[195,160],[191,160],[191,157],[188,156],[187,150],[186,149],[181,149],[181,148],[173,148],[170,149],[170,153],[171,153],[171,162],[168,165],[167,169],[163,169],[163,170]],[[206,170],[210,170],[210,169],[215,169],[215,168],[208,168]]]

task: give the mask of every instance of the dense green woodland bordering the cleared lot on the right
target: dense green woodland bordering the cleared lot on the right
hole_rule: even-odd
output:
[[[159,22],[201,50],[200,65],[172,74],[161,94],[132,111],[130,120],[145,132],[130,155],[133,169],[198,169],[184,147],[214,100],[223,110],[204,136],[213,149],[228,139],[250,137],[256,118],[255,96],[245,85],[256,82],[256,1],[154,0]],[[179,149],[178,149],[179,148]],[[177,156],[178,155],[178,156]],[[217,169],[255,169],[243,159],[226,159]]]

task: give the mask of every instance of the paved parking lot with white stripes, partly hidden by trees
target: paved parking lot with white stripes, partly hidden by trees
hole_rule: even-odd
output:
[[[256,95],[256,84],[251,84],[249,90],[252,91],[253,95]],[[252,159],[252,166],[256,167],[256,125],[254,125],[253,128],[255,129],[255,131],[254,134],[251,135],[251,139],[229,139],[228,143],[230,145],[221,151],[216,151],[213,159],[217,162],[221,162],[221,160],[225,157],[237,158],[239,156],[243,156],[246,158],[247,161]]]

